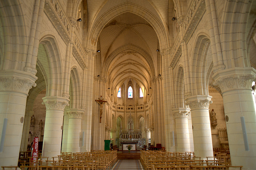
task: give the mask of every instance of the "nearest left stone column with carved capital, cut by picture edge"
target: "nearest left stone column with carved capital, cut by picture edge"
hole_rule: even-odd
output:
[[[0,75],[0,136],[4,139],[0,165],[17,166],[28,91],[36,86],[37,78],[18,70],[0,71]],[[5,137],[2,136],[4,120],[7,121]]]

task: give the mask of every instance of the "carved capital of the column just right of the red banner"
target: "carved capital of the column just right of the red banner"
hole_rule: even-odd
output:
[[[46,96],[43,97],[42,105],[46,106],[46,110],[61,110],[64,111],[66,105],[69,106],[68,102],[70,101],[66,97],[59,96]]]

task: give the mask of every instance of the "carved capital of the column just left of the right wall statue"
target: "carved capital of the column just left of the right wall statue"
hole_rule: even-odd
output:
[[[209,105],[212,104],[212,96],[210,95],[195,95],[187,97],[186,105],[189,105],[190,109],[209,109]]]

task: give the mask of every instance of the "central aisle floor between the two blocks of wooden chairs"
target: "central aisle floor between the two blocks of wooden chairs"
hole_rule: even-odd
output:
[[[112,170],[143,170],[140,160],[122,159],[118,160]]]

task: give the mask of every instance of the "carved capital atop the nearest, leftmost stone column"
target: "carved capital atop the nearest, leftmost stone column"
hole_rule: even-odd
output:
[[[16,91],[28,95],[32,87],[36,87],[37,77],[32,73],[19,70],[0,71],[0,91]]]

